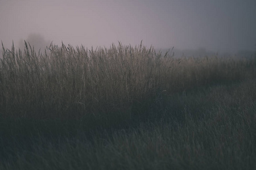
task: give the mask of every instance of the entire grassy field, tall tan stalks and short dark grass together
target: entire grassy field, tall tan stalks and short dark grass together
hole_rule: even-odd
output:
[[[0,169],[255,169],[256,56],[5,49]]]

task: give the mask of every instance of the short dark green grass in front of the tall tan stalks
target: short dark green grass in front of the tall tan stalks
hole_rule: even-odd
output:
[[[0,169],[256,168],[255,79],[165,100],[144,121],[98,129],[2,120]]]

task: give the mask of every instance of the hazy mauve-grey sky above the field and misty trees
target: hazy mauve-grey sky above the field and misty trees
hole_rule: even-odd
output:
[[[0,39],[237,52],[256,49],[255,0],[0,0]]]

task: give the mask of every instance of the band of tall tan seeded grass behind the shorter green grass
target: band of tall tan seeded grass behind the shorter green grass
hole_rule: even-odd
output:
[[[163,95],[217,81],[254,76],[238,58],[175,58],[151,46],[114,44],[110,49],[51,45],[36,54],[3,47],[0,111],[7,117],[108,118],[143,114]],[[248,74],[250,73],[250,74]],[[115,116],[117,116],[115,115]]]

